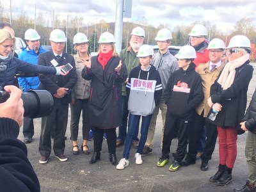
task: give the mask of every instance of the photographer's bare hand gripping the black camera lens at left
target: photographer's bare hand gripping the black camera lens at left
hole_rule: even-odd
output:
[[[10,93],[10,98],[0,104],[0,117],[12,118],[21,127],[23,122],[23,101],[20,99],[22,91],[16,86],[4,86],[4,90]]]

